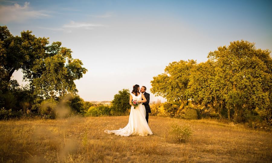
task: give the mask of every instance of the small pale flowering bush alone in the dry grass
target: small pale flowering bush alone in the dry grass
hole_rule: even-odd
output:
[[[186,142],[193,135],[193,129],[187,124],[173,123],[168,132],[170,142]]]

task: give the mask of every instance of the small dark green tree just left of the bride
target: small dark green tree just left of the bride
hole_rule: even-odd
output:
[[[114,95],[114,98],[112,100],[112,115],[114,114],[122,114],[125,113],[129,108],[131,108],[131,105],[129,104],[129,90],[128,89],[122,89],[121,91],[118,91],[118,94]]]

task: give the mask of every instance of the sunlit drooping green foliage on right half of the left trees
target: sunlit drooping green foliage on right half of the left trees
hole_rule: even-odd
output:
[[[34,94],[49,98],[77,92],[74,80],[82,78],[87,70],[80,60],[72,59],[70,49],[59,49],[54,56],[35,60],[31,69],[31,76],[36,76],[31,83],[36,88]]]

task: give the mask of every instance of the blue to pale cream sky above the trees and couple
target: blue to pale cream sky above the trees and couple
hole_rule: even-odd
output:
[[[150,101],[163,102],[150,82],[171,62],[205,62],[210,51],[237,40],[272,50],[271,7],[264,0],[0,0],[0,25],[70,48],[88,69],[75,81],[85,101],[112,101],[138,84]],[[24,85],[22,76],[13,74]]]

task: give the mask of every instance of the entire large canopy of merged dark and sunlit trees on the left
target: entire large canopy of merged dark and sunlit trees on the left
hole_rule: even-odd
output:
[[[49,45],[49,38],[36,37],[31,31],[13,36],[6,26],[0,26],[0,73],[2,94],[10,91],[11,76],[21,69],[34,103],[44,99],[76,93],[74,80],[83,77],[87,69],[72,51],[61,42]],[[0,92],[1,93],[1,92]]]

